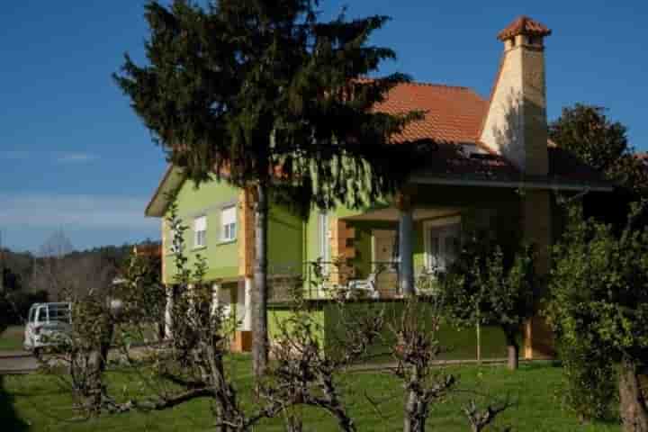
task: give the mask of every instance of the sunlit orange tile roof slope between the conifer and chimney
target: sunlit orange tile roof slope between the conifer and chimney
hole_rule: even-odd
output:
[[[405,83],[376,105],[379,112],[392,114],[422,111],[425,118],[411,122],[394,142],[433,139],[437,142],[476,143],[486,102],[468,87]]]

